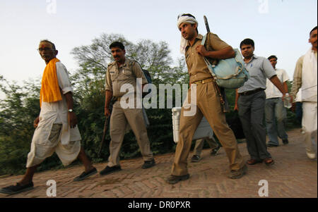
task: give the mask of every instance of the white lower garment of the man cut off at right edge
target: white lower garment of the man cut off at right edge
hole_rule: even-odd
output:
[[[302,130],[305,132],[307,153],[317,151],[317,102],[302,102]]]

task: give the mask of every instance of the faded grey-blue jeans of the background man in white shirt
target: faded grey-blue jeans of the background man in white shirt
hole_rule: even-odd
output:
[[[266,99],[265,120],[269,144],[278,146],[278,137],[288,139],[285,131],[286,109],[281,98]]]

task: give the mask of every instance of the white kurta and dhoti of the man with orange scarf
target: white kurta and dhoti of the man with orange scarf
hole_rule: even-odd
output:
[[[66,98],[63,95],[67,92],[73,92],[69,75],[66,67],[61,62],[57,62],[56,66],[62,100],[56,102],[42,101],[40,122],[33,135],[27,168],[42,163],[45,158],[52,156],[54,151],[63,165],[67,166],[77,158],[81,149],[81,134],[77,126],[74,128],[69,126],[68,108]],[[53,126],[54,130],[52,130]],[[59,130],[60,128],[61,130]],[[54,133],[57,133],[57,136],[54,137]]]

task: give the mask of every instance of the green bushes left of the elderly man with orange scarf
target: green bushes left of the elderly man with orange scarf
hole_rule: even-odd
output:
[[[0,175],[16,173],[25,167],[33,136],[33,120],[40,111],[39,86],[25,82],[23,86],[0,77],[0,89],[6,99],[0,102]]]

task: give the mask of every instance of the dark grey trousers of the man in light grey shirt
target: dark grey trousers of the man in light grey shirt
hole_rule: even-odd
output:
[[[266,146],[266,129],[263,124],[266,94],[264,91],[239,96],[239,116],[247,140],[247,151],[252,159],[271,158]]]

